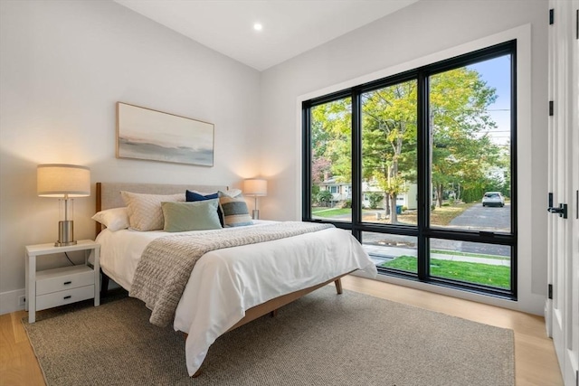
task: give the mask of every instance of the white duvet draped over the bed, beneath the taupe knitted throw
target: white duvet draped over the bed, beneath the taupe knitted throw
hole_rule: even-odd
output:
[[[253,226],[271,221],[255,222]],[[168,234],[172,233],[101,231],[97,237],[100,267],[130,290],[147,244]],[[337,228],[204,254],[195,264],[174,322],[176,331],[188,334],[187,372],[195,374],[215,339],[252,306],[356,269],[376,275],[375,265],[360,243],[349,231]]]

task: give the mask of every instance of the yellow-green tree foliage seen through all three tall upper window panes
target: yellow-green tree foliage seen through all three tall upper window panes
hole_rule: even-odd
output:
[[[479,201],[489,190],[509,195],[508,147],[494,145],[489,136],[497,127],[487,111],[496,90],[466,67],[432,75],[429,87],[432,187],[438,206],[449,191],[463,202]],[[368,91],[361,99],[362,178],[385,193],[380,201],[385,200],[396,222],[396,197],[417,178],[417,82]],[[352,181],[351,99],[313,107],[310,118],[312,181],[325,176]]]

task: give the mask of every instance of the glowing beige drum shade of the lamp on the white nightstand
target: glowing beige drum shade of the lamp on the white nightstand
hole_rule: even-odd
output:
[[[36,190],[42,197],[86,197],[90,195],[90,169],[86,166],[38,165]]]

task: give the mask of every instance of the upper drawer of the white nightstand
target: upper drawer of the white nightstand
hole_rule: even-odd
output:
[[[36,296],[90,285],[94,285],[94,271],[86,265],[47,269],[36,273]]]

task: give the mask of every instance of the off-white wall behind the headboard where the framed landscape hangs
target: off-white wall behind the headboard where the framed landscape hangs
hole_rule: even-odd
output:
[[[36,165],[87,165],[93,184],[259,174],[260,73],[121,5],[2,0],[0,50],[0,314],[24,295],[24,245],[57,239],[58,201],[36,196]],[[117,101],[214,123],[214,167],[115,158]],[[76,239],[94,238],[94,203],[75,200]]]

